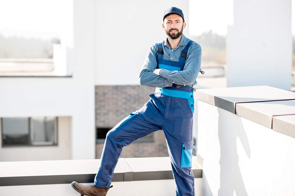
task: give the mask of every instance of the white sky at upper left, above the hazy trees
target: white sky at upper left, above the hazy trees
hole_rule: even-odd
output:
[[[70,0],[0,1],[0,34],[5,37],[60,37]],[[37,8],[37,9],[36,9]]]

